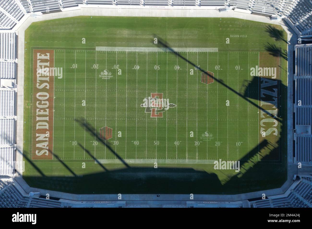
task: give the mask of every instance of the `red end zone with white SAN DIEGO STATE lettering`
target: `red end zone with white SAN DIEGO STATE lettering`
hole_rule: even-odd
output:
[[[54,50],[33,50],[32,159],[53,159]]]

